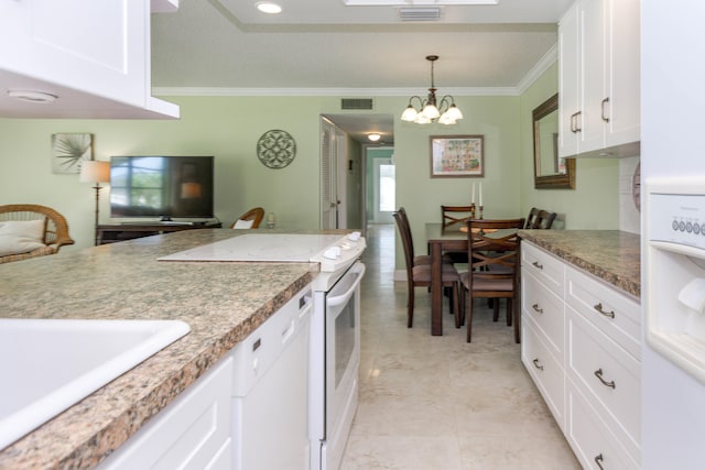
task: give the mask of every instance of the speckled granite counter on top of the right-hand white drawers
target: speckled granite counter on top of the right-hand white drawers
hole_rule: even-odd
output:
[[[641,297],[641,239],[617,230],[520,230],[519,236],[627,294]]]

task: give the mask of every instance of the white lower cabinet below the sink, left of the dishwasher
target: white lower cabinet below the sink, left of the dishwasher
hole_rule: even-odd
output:
[[[112,452],[100,470],[229,470],[232,359],[221,360]]]

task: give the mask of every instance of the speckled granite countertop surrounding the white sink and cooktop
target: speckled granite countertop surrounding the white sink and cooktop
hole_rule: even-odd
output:
[[[191,326],[188,335],[0,449],[0,469],[95,467],[318,273],[317,263],[156,261],[246,232],[185,230],[0,265],[2,317]]]

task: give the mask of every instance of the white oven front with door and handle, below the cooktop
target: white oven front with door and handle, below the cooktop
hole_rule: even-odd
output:
[[[313,470],[338,469],[357,411],[364,275],[365,264],[358,261],[339,278],[322,273],[314,281],[310,368]]]

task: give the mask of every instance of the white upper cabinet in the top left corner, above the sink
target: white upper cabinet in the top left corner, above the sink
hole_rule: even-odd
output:
[[[151,96],[150,14],[149,0],[0,2],[0,116],[178,117],[177,106]],[[25,91],[56,99],[10,96]]]

